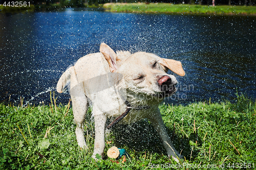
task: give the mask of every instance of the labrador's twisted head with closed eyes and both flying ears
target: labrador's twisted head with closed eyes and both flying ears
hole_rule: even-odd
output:
[[[126,89],[128,96],[136,100],[156,99],[160,102],[175,93],[177,80],[175,76],[166,74],[168,69],[179,76],[185,75],[181,62],[154,54],[138,52],[131,55],[119,52],[116,55],[105,43],[100,45],[100,52],[108,61],[111,72],[123,75],[124,83],[121,86]]]

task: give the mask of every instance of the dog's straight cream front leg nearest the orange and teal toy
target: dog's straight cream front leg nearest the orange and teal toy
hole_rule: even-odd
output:
[[[103,156],[103,151],[105,148],[105,139],[104,139],[104,128],[105,128],[106,116],[103,114],[94,116],[95,123],[95,141],[94,141],[94,152],[93,158],[96,157],[96,154]]]

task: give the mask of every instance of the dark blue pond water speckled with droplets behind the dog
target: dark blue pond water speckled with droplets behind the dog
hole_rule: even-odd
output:
[[[114,51],[154,53],[182,62],[178,92],[167,103],[220,102],[255,92],[256,17],[109,13],[0,14],[0,101],[49,102],[49,90],[80,57]],[[57,92],[56,92],[57,93]],[[67,103],[69,94],[56,94]]]

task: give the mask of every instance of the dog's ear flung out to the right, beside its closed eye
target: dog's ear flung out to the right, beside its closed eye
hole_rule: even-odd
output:
[[[171,71],[175,72],[179,76],[185,76],[185,71],[182,68],[181,62],[172,60],[172,59],[165,59],[160,58],[158,59],[158,62],[164,66],[164,71],[167,72],[169,68]],[[167,67],[167,68],[166,68]]]

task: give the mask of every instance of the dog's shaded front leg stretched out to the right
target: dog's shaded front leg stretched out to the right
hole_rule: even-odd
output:
[[[162,119],[159,108],[157,108],[154,111],[154,113],[150,117],[148,117],[148,119],[150,120],[153,127],[156,129],[156,131],[160,135],[163,142],[163,146],[167,151],[168,156],[169,157],[172,156],[173,159],[175,159],[175,161],[179,162],[177,157],[183,158],[183,156],[175,150],[173,142],[172,140],[170,140],[170,137],[168,136],[165,126],[163,124],[163,119]]]

